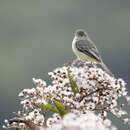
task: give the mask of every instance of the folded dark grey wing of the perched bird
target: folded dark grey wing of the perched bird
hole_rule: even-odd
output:
[[[88,55],[91,58],[96,59],[98,62],[101,62],[101,56],[93,43],[87,43],[86,40],[81,40],[76,42],[76,48],[80,52]]]

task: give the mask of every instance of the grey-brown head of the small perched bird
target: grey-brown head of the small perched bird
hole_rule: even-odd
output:
[[[88,37],[87,32],[83,29],[76,30],[74,35],[75,35],[75,38],[78,40],[87,39],[87,37]]]

